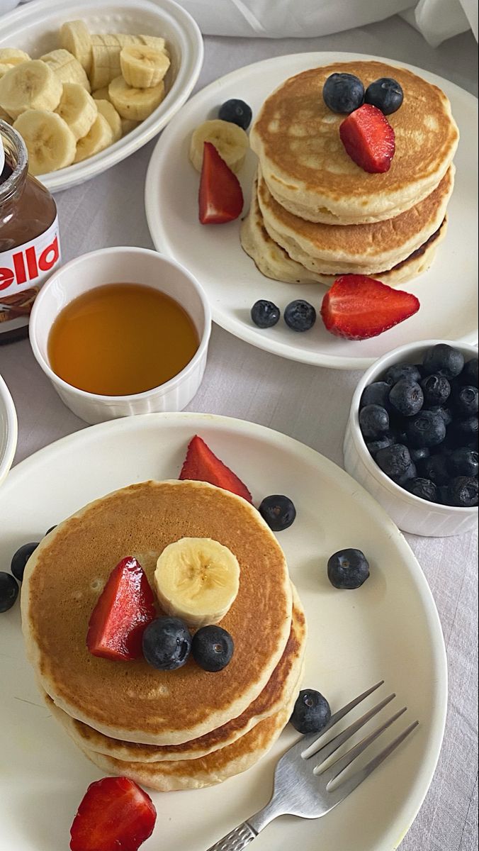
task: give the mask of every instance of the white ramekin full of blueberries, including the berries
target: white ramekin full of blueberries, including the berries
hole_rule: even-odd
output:
[[[346,426],[345,469],[404,532],[467,532],[477,523],[477,349],[424,340],[363,375]]]

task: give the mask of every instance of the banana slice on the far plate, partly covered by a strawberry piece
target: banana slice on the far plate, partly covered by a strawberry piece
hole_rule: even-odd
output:
[[[205,142],[211,142],[231,171],[238,172],[248,151],[248,135],[237,124],[214,118],[204,121],[194,131],[190,143],[190,159],[197,171],[202,170],[202,154]]]

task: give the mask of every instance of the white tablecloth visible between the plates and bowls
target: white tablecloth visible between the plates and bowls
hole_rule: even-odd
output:
[[[476,94],[476,43],[471,33],[432,49],[398,17],[328,37],[273,41],[207,37],[197,89],[256,60],[334,49],[390,56],[422,66]],[[243,96],[248,100],[248,92]],[[143,205],[153,144],[93,182],[57,197],[66,260],[110,245],[153,247]],[[85,427],[60,402],[37,367],[27,340],[0,346],[0,373],[19,416],[16,462]],[[341,465],[345,422],[358,378],[357,372],[281,360],[214,327],[204,381],[188,409],[271,426]],[[448,724],[436,775],[400,848],[473,851],[477,847],[477,538],[476,534],[436,540],[409,535],[408,540],[436,599],[450,679]],[[406,614],[404,628],[408,628]]]

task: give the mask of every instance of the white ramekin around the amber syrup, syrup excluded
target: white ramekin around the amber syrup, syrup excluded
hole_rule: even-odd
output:
[[[197,328],[200,345],[174,378],[144,393],[100,396],[78,390],[54,373],[48,360],[48,334],[54,319],[78,295],[106,283],[142,283],[170,295],[184,307]],[[43,372],[67,408],[92,424],[185,408],[202,382],[210,333],[211,311],[197,280],[175,260],[147,248],[101,248],[71,260],[43,284],[30,318],[31,348]]]

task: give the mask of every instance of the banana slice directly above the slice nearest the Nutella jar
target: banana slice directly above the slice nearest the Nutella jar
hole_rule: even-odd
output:
[[[26,110],[54,111],[60,103],[62,90],[59,78],[46,62],[30,60],[13,66],[3,75],[0,104],[12,118],[18,118]]]

